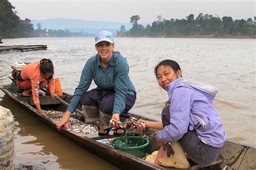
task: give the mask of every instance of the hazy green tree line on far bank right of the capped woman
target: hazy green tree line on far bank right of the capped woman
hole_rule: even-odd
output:
[[[157,20],[152,25],[143,26],[138,23],[140,16],[134,15],[131,18],[132,28],[125,29],[120,26],[117,31],[119,37],[192,37],[212,35],[213,37],[223,36],[256,36],[256,17],[245,19],[235,19],[232,17],[219,18],[218,16],[199,13],[194,19],[190,14],[186,19],[165,19],[157,16]]]

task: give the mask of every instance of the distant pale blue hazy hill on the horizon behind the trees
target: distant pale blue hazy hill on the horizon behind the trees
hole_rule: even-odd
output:
[[[71,32],[83,31],[87,33],[98,33],[99,31],[107,30],[115,34],[116,31],[119,31],[121,25],[124,25],[126,30],[130,30],[132,27],[132,23],[100,22],[65,18],[31,20],[31,23],[34,25],[34,29],[37,29],[37,23],[41,23],[42,29],[46,28],[46,30],[69,29]],[[142,23],[144,26],[147,24],[150,23]]]

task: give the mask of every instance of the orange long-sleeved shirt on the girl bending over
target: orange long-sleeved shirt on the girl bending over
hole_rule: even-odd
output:
[[[21,72],[21,77],[23,80],[30,80],[31,81],[31,89],[33,95],[33,102],[34,104],[39,103],[39,84],[42,81],[45,81],[40,74],[40,61],[32,62],[26,65]],[[54,81],[53,77],[51,80],[48,80],[48,86],[51,93],[54,93]]]

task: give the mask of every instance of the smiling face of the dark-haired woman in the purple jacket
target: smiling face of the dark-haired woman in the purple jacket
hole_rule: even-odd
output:
[[[181,76],[181,71],[174,72],[170,66],[161,65],[157,69],[157,80],[161,88],[168,90],[169,83],[178,79]]]

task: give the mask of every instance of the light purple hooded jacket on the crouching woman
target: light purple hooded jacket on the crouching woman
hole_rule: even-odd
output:
[[[190,84],[190,85],[188,85]],[[177,141],[187,130],[196,130],[198,137],[213,147],[224,145],[226,135],[212,101],[218,89],[207,84],[184,82],[169,84],[170,125],[157,133],[162,142]]]

